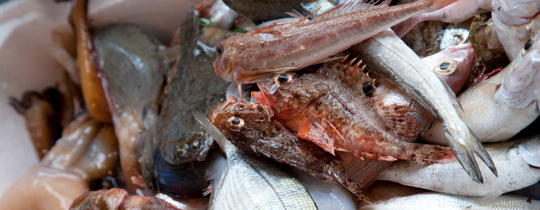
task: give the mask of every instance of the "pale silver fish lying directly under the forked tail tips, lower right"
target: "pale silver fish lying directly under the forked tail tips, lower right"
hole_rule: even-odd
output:
[[[457,162],[444,165],[394,162],[378,179],[441,193],[481,197],[497,197],[540,181],[540,136],[489,144],[486,149],[499,169],[499,177],[484,176],[483,184],[459,170]],[[487,167],[482,165],[482,170]]]

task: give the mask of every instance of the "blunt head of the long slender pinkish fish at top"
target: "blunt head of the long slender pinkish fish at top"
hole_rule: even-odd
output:
[[[216,74],[226,81],[233,80],[233,77],[236,74],[234,72],[236,69],[234,58],[235,55],[238,55],[238,50],[234,44],[236,42],[236,36],[238,36],[238,34],[217,43],[215,49],[217,54],[216,59],[212,62]]]

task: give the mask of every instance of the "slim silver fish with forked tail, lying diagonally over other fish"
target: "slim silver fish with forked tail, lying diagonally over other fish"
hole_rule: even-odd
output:
[[[375,73],[392,80],[443,122],[445,139],[463,169],[475,181],[482,183],[474,154],[497,174],[489,154],[454,109],[460,107],[454,92],[432,73],[432,69],[423,65],[420,57],[393,31],[383,31],[350,50],[364,59]]]

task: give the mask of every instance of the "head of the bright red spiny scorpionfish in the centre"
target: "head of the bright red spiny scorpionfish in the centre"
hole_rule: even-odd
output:
[[[269,106],[276,117],[288,120],[297,116],[309,102],[328,92],[327,85],[315,73],[277,73],[257,83],[259,92],[251,92],[257,102]]]

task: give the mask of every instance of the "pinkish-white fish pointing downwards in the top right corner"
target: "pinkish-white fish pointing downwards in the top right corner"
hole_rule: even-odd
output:
[[[523,44],[540,30],[540,1],[492,0],[491,19],[508,59],[520,55]]]

